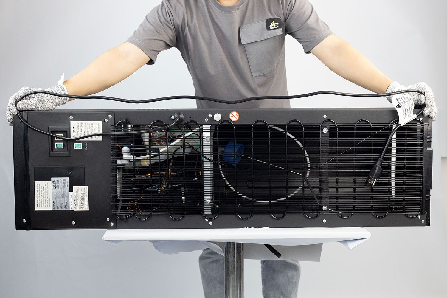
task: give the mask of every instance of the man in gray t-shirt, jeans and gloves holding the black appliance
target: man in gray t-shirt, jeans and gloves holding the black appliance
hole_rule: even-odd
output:
[[[132,36],[108,50],[84,70],[48,91],[90,95],[124,80],[144,64],[156,62],[161,50],[177,47],[202,97],[238,100],[253,96],[287,95],[284,38],[303,45],[332,71],[372,92],[405,87],[380,72],[366,57],[332,33],[308,0],[163,0]],[[425,83],[409,95],[425,103],[424,115],[436,119],[433,92]],[[11,124],[17,99],[36,88],[24,87],[8,103]],[[49,110],[68,98],[34,94],[18,103],[19,110]],[[391,98],[388,98],[391,101]],[[197,101],[198,108],[224,107]],[[290,107],[288,100],[250,101],[238,107]],[[199,258],[205,297],[223,297],[223,257],[205,250]],[[298,262],[261,261],[264,297],[296,297]]]

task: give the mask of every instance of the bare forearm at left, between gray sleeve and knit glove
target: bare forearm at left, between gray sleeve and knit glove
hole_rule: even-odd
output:
[[[126,79],[149,60],[138,46],[125,42],[106,51],[63,84],[68,94],[91,95]]]

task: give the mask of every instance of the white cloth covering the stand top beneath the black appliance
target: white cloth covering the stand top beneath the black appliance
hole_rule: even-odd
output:
[[[272,245],[280,260],[320,261],[323,243],[340,242],[352,249],[369,233],[362,227],[341,228],[240,228],[240,229],[156,229],[107,230],[102,239],[111,243],[149,241],[164,254],[211,248],[223,254],[225,242],[245,243],[244,258],[278,260],[264,244]]]

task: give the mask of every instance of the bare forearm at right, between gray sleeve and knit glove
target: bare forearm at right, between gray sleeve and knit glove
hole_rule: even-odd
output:
[[[336,35],[329,35],[311,50],[337,75],[375,93],[385,93],[392,80],[358,50]]]

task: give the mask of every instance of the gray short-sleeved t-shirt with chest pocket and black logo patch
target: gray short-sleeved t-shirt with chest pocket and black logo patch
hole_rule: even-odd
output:
[[[284,38],[310,50],[332,34],[308,0],[163,0],[127,40],[155,63],[176,47],[188,66],[197,96],[238,100],[287,95]],[[251,101],[244,108],[287,108],[288,100]],[[197,101],[198,108],[228,107]]]

